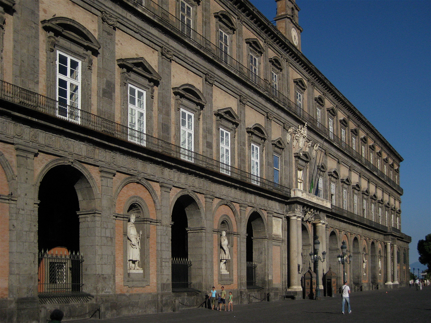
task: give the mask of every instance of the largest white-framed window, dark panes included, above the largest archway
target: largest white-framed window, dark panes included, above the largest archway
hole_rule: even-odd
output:
[[[59,117],[79,123],[80,91],[81,61],[57,52],[57,115]]]

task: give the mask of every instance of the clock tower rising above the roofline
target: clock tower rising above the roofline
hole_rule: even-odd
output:
[[[300,11],[295,0],[275,0],[277,3],[277,16],[274,18],[277,29],[286,36],[290,43],[301,50],[302,28],[298,24]]]

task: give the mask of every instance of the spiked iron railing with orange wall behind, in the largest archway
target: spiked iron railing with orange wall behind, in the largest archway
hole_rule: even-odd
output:
[[[37,272],[40,294],[82,292],[82,263],[84,257],[79,252],[70,254],[39,252]]]

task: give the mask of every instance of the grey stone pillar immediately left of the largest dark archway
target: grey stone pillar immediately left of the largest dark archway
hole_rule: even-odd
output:
[[[37,149],[16,144],[16,213],[9,218],[9,298],[16,299],[16,322],[37,322],[37,212],[34,156]]]

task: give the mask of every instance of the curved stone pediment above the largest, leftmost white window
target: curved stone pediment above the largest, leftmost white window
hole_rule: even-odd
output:
[[[96,37],[83,25],[67,17],[54,17],[41,22],[45,31],[52,32],[55,36],[62,36],[74,43],[90,50],[93,55],[97,55],[100,43]]]

